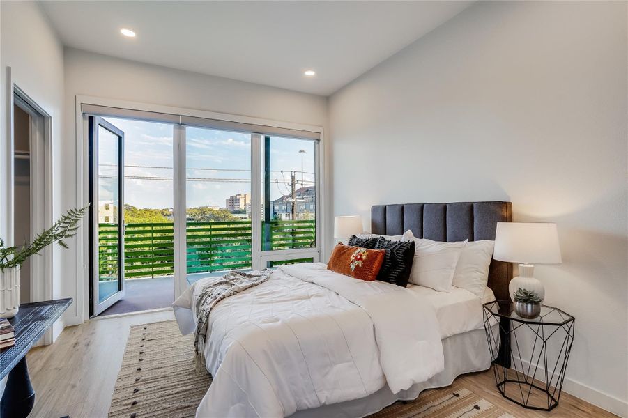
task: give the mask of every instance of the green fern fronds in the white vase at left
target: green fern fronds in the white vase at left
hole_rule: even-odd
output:
[[[59,242],[63,248],[68,248],[66,242],[68,238],[76,235],[79,229],[79,221],[83,219],[88,206],[82,209],[73,208],[68,210],[58,221],[47,230],[37,235],[31,242],[25,242],[22,247],[5,247],[4,241],[0,238],[0,271],[6,268],[20,267],[30,256],[38,254],[48,245]]]

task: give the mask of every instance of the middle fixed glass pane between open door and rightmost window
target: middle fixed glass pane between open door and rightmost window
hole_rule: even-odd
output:
[[[252,268],[251,134],[185,128],[187,283]]]

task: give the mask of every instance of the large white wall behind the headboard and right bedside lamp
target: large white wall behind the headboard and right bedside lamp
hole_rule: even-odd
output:
[[[627,3],[478,2],[329,100],[335,215],[510,200],[576,317],[565,389],[628,415]]]

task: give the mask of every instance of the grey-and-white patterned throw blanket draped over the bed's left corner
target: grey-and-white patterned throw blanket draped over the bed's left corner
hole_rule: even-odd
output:
[[[211,310],[225,297],[236,295],[247,288],[257,286],[268,280],[272,270],[252,272],[231,271],[222,277],[206,277],[194,283],[194,317],[197,318],[197,330],[194,332],[194,364],[197,372],[205,369],[205,339],[207,323]]]

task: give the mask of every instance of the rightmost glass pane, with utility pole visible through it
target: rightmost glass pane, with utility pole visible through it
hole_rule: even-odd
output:
[[[296,250],[318,261],[316,236],[316,164],[318,142],[309,139],[263,138],[261,249]],[[308,253],[308,254],[304,254]],[[304,258],[305,256],[305,258]],[[276,258],[282,261],[284,258]],[[262,263],[262,267],[265,267]]]

